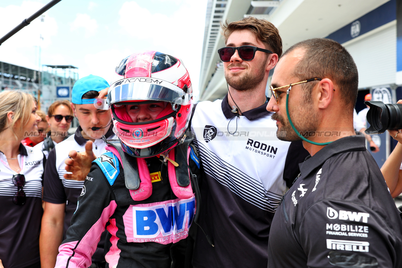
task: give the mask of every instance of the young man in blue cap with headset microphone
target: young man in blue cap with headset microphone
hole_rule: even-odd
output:
[[[72,103],[75,117],[80,126],[74,135],[65,141],[57,143],[50,151],[45,167],[43,179],[43,200],[45,211],[43,213],[41,235],[39,240],[42,267],[54,267],[59,245],[70,226],[70,220],[77,207],[77,198],[82,194],[84,182],[66,180],[63,175],[67,173],[64,161],[71,150],[85,151],[86,141],[92,141],[92,151],[95,155],[106,152],[102,136],[115,139],[111,115],[105,110],[94,107],[94,99],[99,91],[109,87],[105,79],[99,76],[86,76],[79,79],[72,88]],[[70,117],[64,117],[70,121]],[[55,118],[60,120],[60,118]],[[63,119],[63,118],[62,118]],[[92,180],[92,178],[88,178]],[[92,256],[91,267],[104,267],[105,258],[103,243],[100,239],[98,248]]]

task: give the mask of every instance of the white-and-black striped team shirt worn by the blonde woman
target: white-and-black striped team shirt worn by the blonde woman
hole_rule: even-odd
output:
[[[20,174],[25,176],[24,205],[12,201],[18,190],[12,177],[17,172],[10,169],[6,156],[0,152],[0,260],[7,268],[27,267],[40,261],[42,175],[46,158],[41,150],[22,143],[19,150]]]

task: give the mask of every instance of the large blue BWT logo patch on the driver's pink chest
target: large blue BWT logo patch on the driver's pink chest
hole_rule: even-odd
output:
[[[155,205],[156,204],[156,205]],[[188,236],[195,197],[132,206],[124,215],[127,242],[175,243]],[[131,214],[132,215],[129,215]],[[132,223],[129,222],[132,219]],[[132,228],[130,228],[132,226]],[[132,232],[132,235],[131,235]]]

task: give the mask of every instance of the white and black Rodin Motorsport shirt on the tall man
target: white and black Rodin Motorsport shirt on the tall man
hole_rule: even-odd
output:
[[[191,131],[203,167],[200,225],[193,264],[199,268],[267,267],[275,210],[308,152],[276,137],[267,104],[232,113],[224,100],[195,106]]]

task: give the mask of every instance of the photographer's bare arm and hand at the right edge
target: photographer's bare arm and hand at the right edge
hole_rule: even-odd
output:
[[[402,104],[402,100],[398,100],[397,103]],[[388,130],[388,133],[398,141],[398,144],[381,167],[382,175],[385,178],[392,198],[395,198],[402,192],[402,170],[400,170],[402,163],[402,133],[400,131],[400,129]]]

